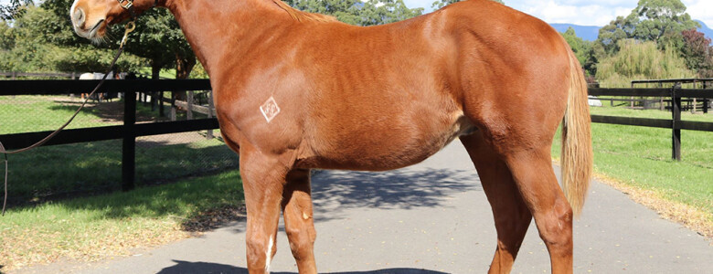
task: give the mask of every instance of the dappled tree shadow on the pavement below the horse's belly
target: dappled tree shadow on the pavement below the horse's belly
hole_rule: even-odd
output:
[[[449,196],[482,190],[475,170],[400,169],[367,173],[323,171],[312,179],[315,221],[351,208],[417,209],[442,206]]]

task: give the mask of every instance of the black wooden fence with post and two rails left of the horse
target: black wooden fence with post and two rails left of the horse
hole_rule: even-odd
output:
[[[5,80],[0,81],[0,96],[65,95],[93,90],[99,80]],[[131,91],[127,91],[131,90]],[[194,132],[218,129],[215,118],[189,121],[136,123],[136,93],[154,91],[210,90],[208,79],[183,80],[107,80],[98,92],[123,92],[122,125],[65,130],[45,145],[95,142],[122,139],[122,189],[134,188],[136,137],[166,133]],[[50,132],[27,132],[0,135],[5,149],[27,147]]]

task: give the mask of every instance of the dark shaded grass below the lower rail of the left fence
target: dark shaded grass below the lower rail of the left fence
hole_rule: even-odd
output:
[[[9,158],[10,201],[61,198],[121,189],[122,142],[87,142],[41,147]],[[217,139],[139,146],[136,184],[235,168],[238,157]]]

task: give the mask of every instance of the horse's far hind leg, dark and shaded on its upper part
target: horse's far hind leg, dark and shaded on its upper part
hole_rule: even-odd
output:
[[[517,190],[505,162],[484,142],[480,133],[461,137],[478,171],[493,208],[497,248],[488,273],[509,273],[532,216]]]

